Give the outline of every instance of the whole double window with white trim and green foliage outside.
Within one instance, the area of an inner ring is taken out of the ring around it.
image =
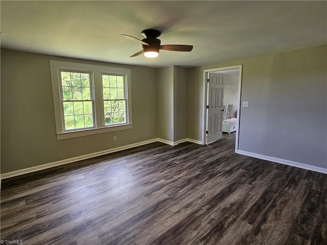
[[[57,139],[132,128],[130,69],[50,61]]]

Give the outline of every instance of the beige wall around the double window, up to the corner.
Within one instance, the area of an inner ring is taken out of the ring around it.
[[[50,60],[130,68],[133,129],[57,140]],[[156,88],[155,68],[1,50],[1,173],[157,138]]]

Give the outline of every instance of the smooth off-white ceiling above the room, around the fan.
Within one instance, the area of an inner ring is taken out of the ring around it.
[[[1,1],[1,47],[162,67],[198,66],[326,44],[326,1]],[[129,58],[141,31],[194,45]]]

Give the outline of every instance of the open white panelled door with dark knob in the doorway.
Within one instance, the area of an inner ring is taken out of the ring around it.
[[[222,75],[209,73],[207,95],[207,139],[212,143],[223,137],[223,97],[224,78]]]

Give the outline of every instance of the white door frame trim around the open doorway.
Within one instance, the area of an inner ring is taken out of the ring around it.
[[[239,69],[239,90],[238,90],[238,110],[237,110],[237,125],[236,125],[236,141],[235,141],[235,151],[239,148],[239,125],[240,125],[240,110],[241,110],[241,88],[242,88],[242,68],[243,65],[233,65],[233,66],[224,66],[217,67],[212,69],[203,70],[203,89],[202,89],[202,141],[201,144],[206,144],[206,118],[207,118],[207,78],[209,72],[222,71],[222,70],[232,70]]]

